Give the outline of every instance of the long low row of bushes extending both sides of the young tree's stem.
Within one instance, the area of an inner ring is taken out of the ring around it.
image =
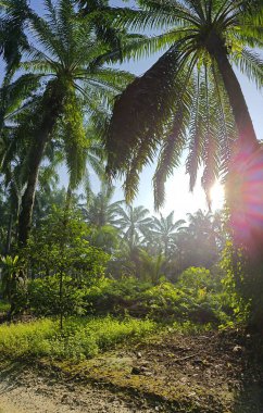
[[[28,288],[30,308],[38,315],[58,314],[58,279],[33,280]],[[218,325],[231,321],[233,309],[221,277],[209,270],[190,267],[176,284],[164,280],[156,286],[135,277],[120,280],[101,277],[78,289],[65,277],[64,314],[150,316],[155,321]]]

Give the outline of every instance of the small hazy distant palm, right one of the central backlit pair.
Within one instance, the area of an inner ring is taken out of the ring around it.
[[[161,214],[160,220],[153,216],[151,231],[153,236],[158,238],[162,252],[166,259],[168,256],[170,248],[174,243],[175,235],[184,224],[184,220],[178,220],[174,223],[174,211],[172,211],[166,217]]]

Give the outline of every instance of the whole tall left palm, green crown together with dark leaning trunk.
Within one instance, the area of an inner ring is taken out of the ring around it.
[[[34,116],[27,120],[32,146],[20,215],[21,245],[26,243],[30,228],[39,166],[59,122],[65,132],[65,153],[74,188],[82,179],[89,146],[84,116],[101,132],[111,99],[132,79],[123,72],[103,68],[97,61],[107,53],[111,61],[109,47],[96,38],[93,25],[87,17],[85,21],[76,17],[72,1],[60,0],[53,7],[52,1],[47,0],[45,7],[45,17],[26,9],[30,46],[20,64],[21,70],[38,78],[41,93]]]

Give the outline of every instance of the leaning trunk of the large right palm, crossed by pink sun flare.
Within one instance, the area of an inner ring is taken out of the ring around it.
[[[237,147],[228,174],[227,200],[235,246],[245,247],[248,253],[246,270],[241,274],[241,277],[245,274],[241,293],[251,303],[251,326],[262,331],[263,152],[226,50],[215,48],[212,54],[222,74],[238,129]],[[235,272],[235,277],[238,285],[239,270]]]

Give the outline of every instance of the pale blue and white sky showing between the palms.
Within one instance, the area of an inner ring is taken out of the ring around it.
[[[123,4],[121,0],[112,0],[112,2],[116,7]],[[43,1],[30,0],[30,5],[39,14],[42,13]],[[139,76],[142,75],[155,62],[156,59],[158,55],[153,55],[150,59],[145,59],[138,62],[126,62],[121,67]],[[249,83],[249,80],[245,76],[238,74],[238,78],[240,80],[241,88],[248,103],[248,108],[254,124],[255,133],[259,139],[263,139],[263,92],[256,90],[255,86]],[[153,173],[154,165],[148,166],[143,170],[143,172],[141,173],[138,196],[134,202],[135,205],[142,204],[143,206],[148,208],[151,213],[154,213],[153,189],[151,183]],[[93,189],[96,191],[99,189],[98,180],[95,176],[91,176],[91,179],[93,179]],[[65,167],[61,168],[61,182],[62,184],[66,185],[67,178]],[[115,199],[123,199],[121,183],[115,183]],[[200,185],[200,177],[193,193],[189,192],[188,190],[189,178],[185,174],[184,157],[181,159],[181,165],[174,172],[174,175],[167,180],[165,188],[166,202],[164,208],[160,211],[164,216],[166,216],[172,210],[175,211],[174,216],[176,220],[184,218],[186,216],[186,213],[193,213],[198,209],[208,211],[205,196]],[[223,196],[222,193],[220,196],[218,191],[222,191],[222,189],[217,189],[218,199],[216,202],[214,202],[214,205],[212,205],[214,210],[221,208],[223,204]]]

